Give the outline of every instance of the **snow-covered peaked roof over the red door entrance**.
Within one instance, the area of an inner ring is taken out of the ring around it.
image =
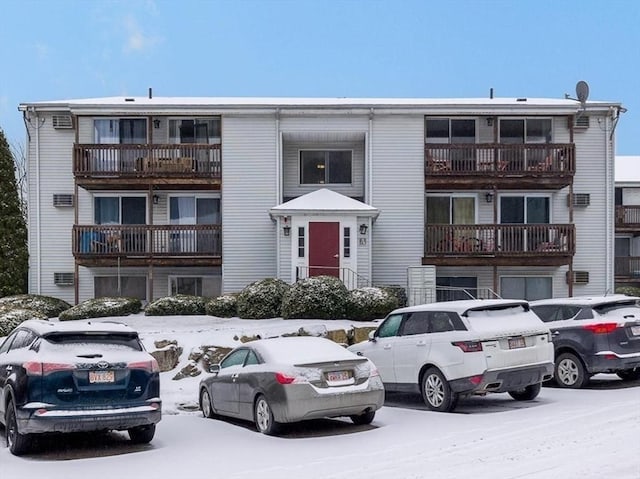
[[[369,206],[361,201],[336,193],[328,188],[322,188],[290,201],[274,206],[269,210],[271,216],[288,216],[294,214],[344,214],[352,213],[358,216],[377,218],[378,208]]]

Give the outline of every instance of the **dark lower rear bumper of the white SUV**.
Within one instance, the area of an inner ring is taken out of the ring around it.
[[[454,392],[462,394],[517,391],[532,384],[548,381],[553,377],[553,368],[553,362],[546,362],[517,368],[494,369],[485,371],[478,384],[473,384],[470,378],[464,378],[451,381],[449,385]]]

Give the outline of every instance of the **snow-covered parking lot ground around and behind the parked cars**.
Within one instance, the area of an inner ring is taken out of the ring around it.
[[[149,350],[155,340],[178,340],[178,367],[203,344],[353,325],[141,315],[125,322]],[[355,325],[365,324],[372,323]],[[545,387],[532,402],[507,394],[462,400],[452,414],[427,411],[418,396],[389,394],[370,426],[328,419],[268,437],[249,423],[190,410],[200,377],[172,381],[174,374],[162,374],[164,416],[151,444],[131,445],[126,434],[113,433],[44,440],[42,452],[21,458],[2,448],[2,478],[640,478],[640,381],[598,375],[584,390]]]

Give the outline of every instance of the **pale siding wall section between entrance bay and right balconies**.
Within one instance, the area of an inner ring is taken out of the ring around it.
[[[372,136],[372,280],[406,286],[424,251],[424,116],[374,116]]]

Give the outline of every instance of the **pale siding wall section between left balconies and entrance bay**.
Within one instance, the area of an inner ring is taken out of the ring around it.
[[[272,116],[222,120],[223,292],[276,276],[277,131]]]

